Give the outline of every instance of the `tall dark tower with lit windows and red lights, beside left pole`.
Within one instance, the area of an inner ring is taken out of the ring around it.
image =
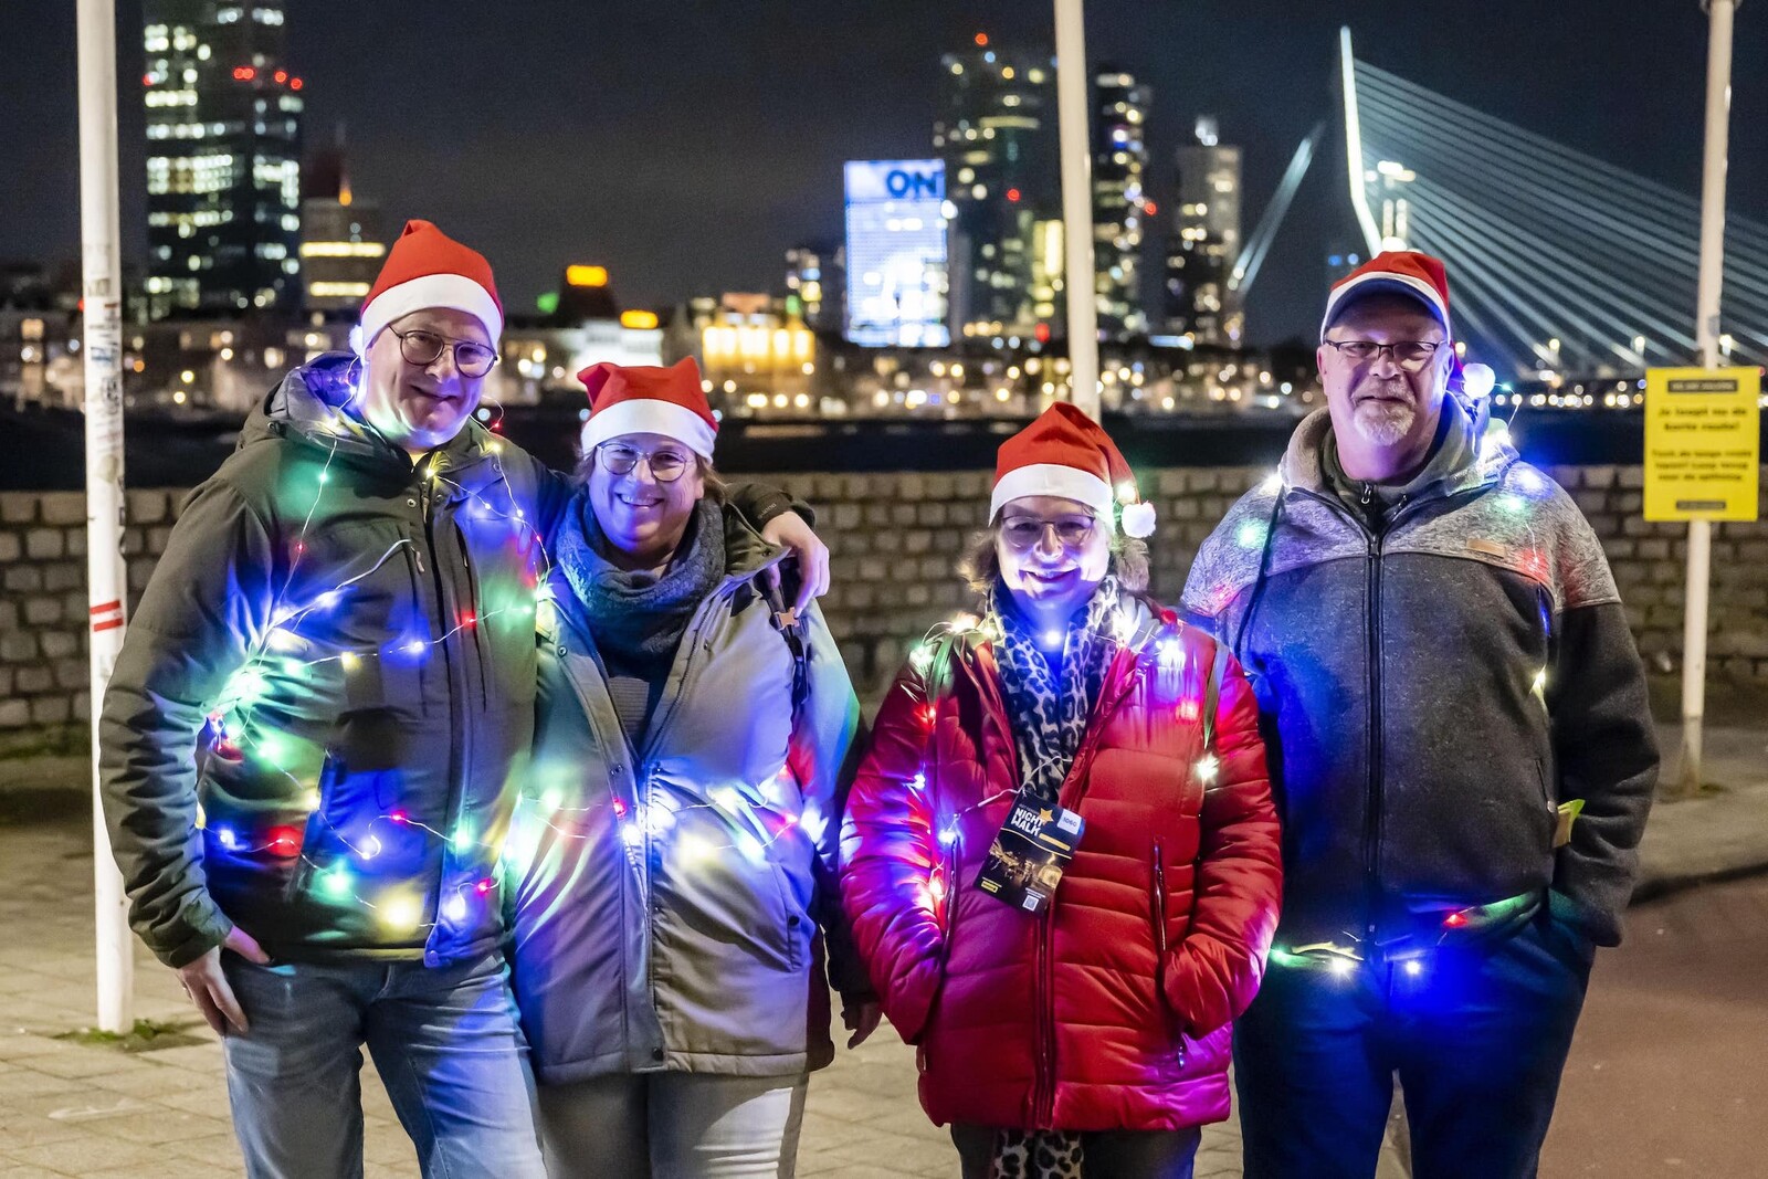
[[[283,0],[143,0],[149,315],[301,306],[302,81]]]

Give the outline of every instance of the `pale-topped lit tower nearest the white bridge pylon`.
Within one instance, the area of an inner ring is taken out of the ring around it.
[[[1197,120],[1197,141],[1179,147],[1179,209],[1167,247],[1167,332],[1199,345],[1239,346],[1245,315],[1229,290],[1239,258],[1239,148],[1222,143],[1216,120]]]

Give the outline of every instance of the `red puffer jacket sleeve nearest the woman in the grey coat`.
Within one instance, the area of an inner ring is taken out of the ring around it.
[[[939,990],[944,932],[930,889],[939,840],[925,794],[932,734],[923,679],[896,677],[847,795],[842,903],[884,1015],[914,1043]]]

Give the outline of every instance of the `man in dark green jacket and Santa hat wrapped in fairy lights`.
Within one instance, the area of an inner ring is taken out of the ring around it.
[[[543,1174],[499,856],[566,486],[472,419],[500,331],[484,258],[407,224],[357,354],[193,493],[104,696],[131,923],[223,1036],[251,1175],[361,1174],[362,1045],[426,1175]]]

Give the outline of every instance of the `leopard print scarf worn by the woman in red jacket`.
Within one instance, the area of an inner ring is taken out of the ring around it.
[[[1077,612],[1061,635],[1061,663],[1055,670],[1045,656],[1047,647],[1055,647],[1048,642],[1052,636],[1036,633],[1004,587],[995,585],[988,597],[992,629],[1001,635],[995,663],[1018,748],[1020,780],[1025,790],[1050,802],[1068,778],[1087,718],[1117,654],[1117,597],[1116,578],[1100,582],[1086,610]],[[1084,1168],[1086,1152],[1078,1133],[995,1131],[990,1179],[1080,1179]]]

